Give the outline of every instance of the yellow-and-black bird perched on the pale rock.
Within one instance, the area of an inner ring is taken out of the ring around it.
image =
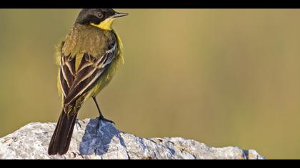
[[[122,44],[111,28],[114,19],[128,14],[113,9],[82,9],[74,28],[58,47],[58,88],[62,112],[51,138],[48,153],[66,154],[81,105],[93,98],[102,115],[96,95],[114,76],[123,63]]]

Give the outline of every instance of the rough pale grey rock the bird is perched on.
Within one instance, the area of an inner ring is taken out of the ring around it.
[[[31,123],[0,138],[0,159],[264,159],[255,150],[214,148],[194,140],[144,139],[98,119],[76,123],[69,152],[49,156],[55,123]]]

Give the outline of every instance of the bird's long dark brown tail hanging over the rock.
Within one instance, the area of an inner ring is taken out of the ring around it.
[[[59,122],[57,122],[48,148],[49,155],[63,155],[68,152],[71,137],[73,135],[74,125],[77,118],[77,112],[71,112],[71,114],[74,115],[68,116],[66,112],[62,110],[61,116],[59,117]]]

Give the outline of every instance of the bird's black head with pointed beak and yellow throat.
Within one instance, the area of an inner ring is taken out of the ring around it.
[[[110,24],[106,26],[111,26],[115,18],[126,15],[128,14],[116,12],[114,9],[82,9],[76,19],[76,23],[99,27],[101,23],[105,22],[105,24]],[[105,27],[105,25],[102,26]]]

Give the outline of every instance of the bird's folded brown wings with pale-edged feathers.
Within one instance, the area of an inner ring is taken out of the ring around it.
[[[91,90],[116,56],[116,45],[100,58],[85,53],[76,69],[76,58],[61,58],[60,82],[64,105],[71,105],[84,93]]]

